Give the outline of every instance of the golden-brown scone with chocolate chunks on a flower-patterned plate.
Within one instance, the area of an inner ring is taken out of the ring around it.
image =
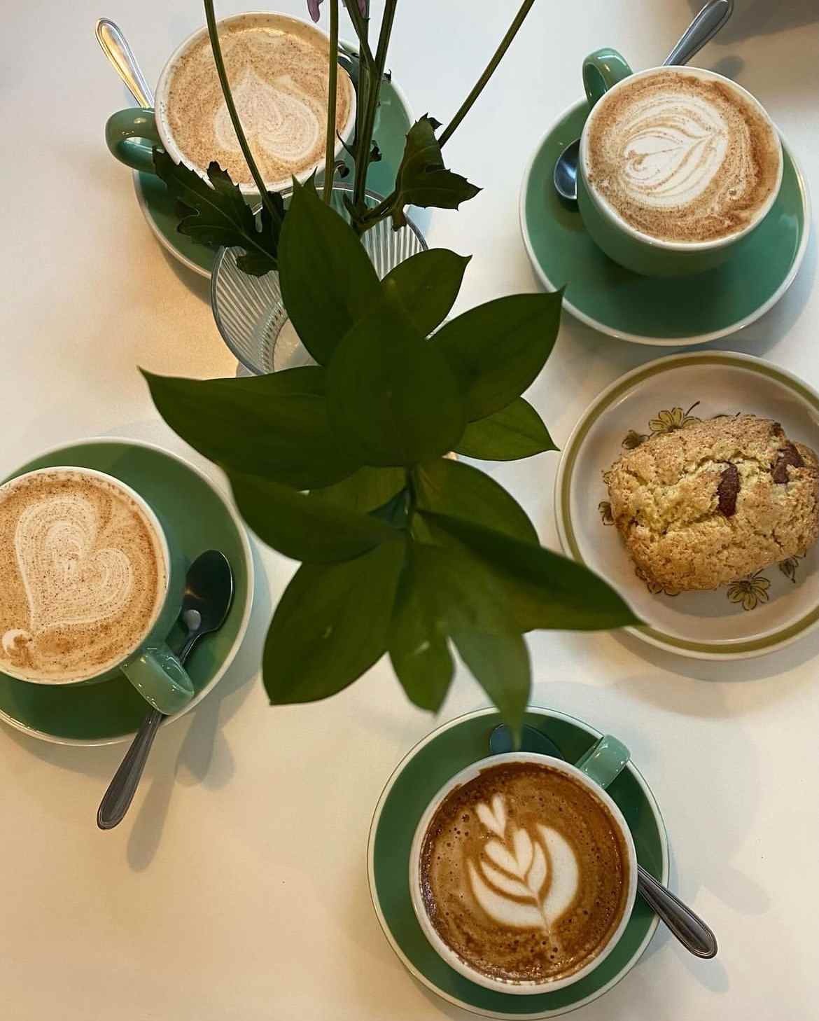
[[[709,589],[803,554],[819,535],[819,461],[754,415],[660,433],[604,473],[647,581]]]

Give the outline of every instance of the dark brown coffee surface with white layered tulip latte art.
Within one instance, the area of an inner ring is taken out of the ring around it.
[[[472,968],[508,981],[579,971],[620,924],[628,849],[606,806],[546,766],[509,763],[456,787],[421,850],[424,905]]]

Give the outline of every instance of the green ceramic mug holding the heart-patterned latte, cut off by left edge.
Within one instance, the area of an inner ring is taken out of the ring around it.
[[[158,598],[155,601],[152,615],[148,622],[146,622],[146,627],[143,629],[139,641],[128,648],[118,660],[114,661],[112,666],[109,666],[102,673],[95,674],[92,670],[78,668],[77,679],[59,678],[58,680],[54,680],[48,677],[32,676],[31,672],[25,672],[19,667],[15,670],[14,666],[7,659],[7,655],[2,654],[3,650],[0,650],[0,670],[9,677],[13,677],[25,683],[59,685],[96,684],[101,681],[110,680],[118,673],[123,673],[143,698],[150,702],[154,709],[159,710],[160,713],[164,713],[166,716],[177,713],[193,698],[194,688],[185,668],[165,644],[165,638],[171,633],[182,609],[187,565],[184,558],[174,551],[165,530],[149,504],[139,493],[119,479],[115,479],[104,472],[98,472],[94,469],[75,468],[71,466],[38,469],[34,472],[12,476],[0,487],[0,499],[2,499],[4,493],[13,493],[15,483],[19,484],[23,480],[34,478],[35,476],[66,471],[103,480],[114,489],[121,490],[127,497],[130,497],[142,512],[145,521],[153,532],[153,538],[155,539],[154,549],[159,552],[162,561],[163,582],[160,584]],[[47,542],[48,537],[46,536],[45,539],[38,541]],[[71,560],[76,556],[76,550],[82,543],[78,541],[76,536],[73,537],[70,535],[64,541],[70,546],[71,556],[67,558]],[[19,553],[17,554],[18,563],[20,555]],[[65,564],[55,561],[55,556],[56,553],[53,550],[49,553],[49,549],[44,547],[38,554],[38,561],[42,564],[44,563],[43,558],[45,558],[47,567],[49,564],[53,564],[53,570],[60,571],[65,576],[68,568]],[[20,571],[25,571],[25,569],[20,567]],[[30,595],[30,606],[32,605],[32,598],[33,596]],[[34,613],[33,610],[31,612]],[[44,625],[44,628],[47,631],[48,624]],[[3,636],[4,641],[5,637]],[[110,659],[107,662],[110,663]]]

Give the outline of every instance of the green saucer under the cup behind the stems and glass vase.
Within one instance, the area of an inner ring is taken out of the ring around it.
[[[403,144],[413,124],[413,112],[406,99],[394,82],[385,82],[381,89],[375,138],[382,158],[372,163],[367,175],[367,187],[379,195],[388,195],[395,185],[395,172],[403,155]],[[352,166],[347,153],[344,161]],[[350,180],[348,176],[347,181]],[[176,202],[162,182],[153,174],[134,174],[134,189],[148,227],[156,240],[175,258],[201,277],[209,277],[215,252],[204,245],[195,244],[177,230],[179,214]]]

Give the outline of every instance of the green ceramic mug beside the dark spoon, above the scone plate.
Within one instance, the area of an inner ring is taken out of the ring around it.
[[[652,237],[627,224],[589,181],[588,136],[594,117],[612,103],[624,82],[633,82],[658,71],[694,76],[722,83],[725,89],[739,93],[773,132],[778,146],[778,173],[775,186],[751,222],[734,234],[710,241],[693,242],[664,241]],[[583,61],[583,86],[588,99],[589,116],[580,137],[577,201],[586,230],[606,254],[626,269],[648,277],[678,277],[703,273],[735,254],[770,211],[782,182],[782,150],[778,141],[779,136],[759,101],[722,75],[698,67],[651,67],[634,74],[624,57],[617,50],[608,47],[589,54]]]

